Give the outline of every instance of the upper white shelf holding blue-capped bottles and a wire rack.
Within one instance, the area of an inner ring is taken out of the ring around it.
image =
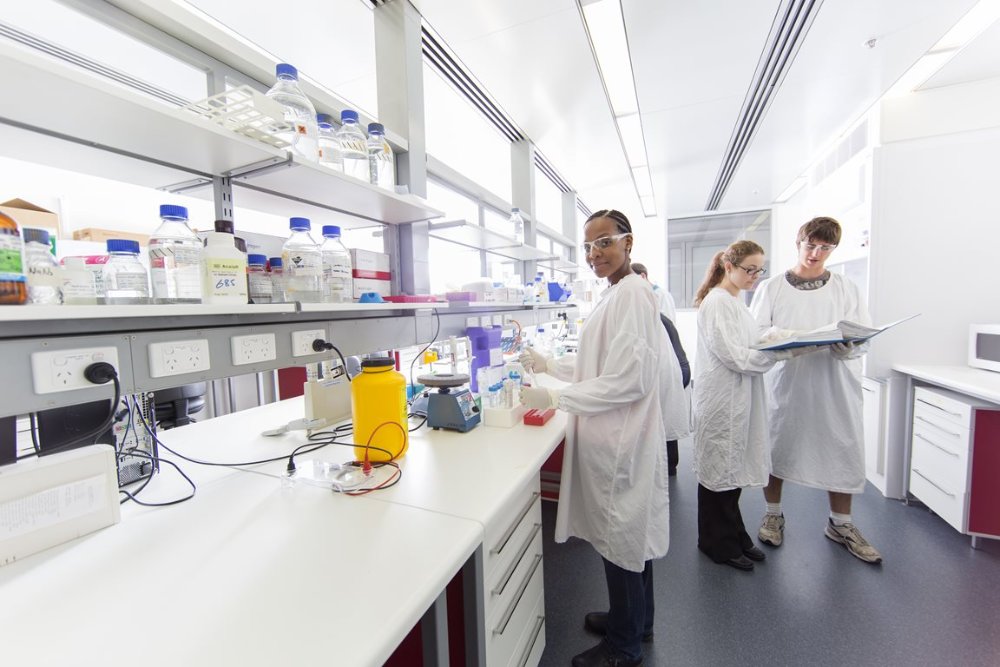
[[[385,224],[443,215],[27,47],[0,42],[0,70],[8,90],[32,91],[0,96],[4,155],[171,191],[196,185],[203,197],[212,176],[232,175],[273,195],[261,208],[282,215],[296,201]]]

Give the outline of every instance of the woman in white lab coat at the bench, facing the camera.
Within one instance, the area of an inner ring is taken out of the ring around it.
[[[638,665],[653,633],[652,559],[669,544],[663,443],[686,435],[687,414],[653,289],[630,268],[628,219],[598,211],[584,233],[587,264],[610,287],[580,329],[578,354],[525,355],[572,384],[525,388],[522,402],[569,413],[555,537],[587,540],[604,560],[609,611],[587,614],[584,626],[605,636],[573,665]]]

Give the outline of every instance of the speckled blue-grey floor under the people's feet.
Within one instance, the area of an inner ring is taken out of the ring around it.
[[[654,563],[655,639],[644,665],[1000,665],[1000,543],[969,547],[942,519],[887,500],[874,487],[854,501],[855,523],[885,559],[868,565],[823,537],[826,494],[788,484],[785,543],[764,546],[752,573],[716,565],[696,548],[697,483],[690,441],[671,478],[670,552]],[[756,537],[764,501],[744,492]],[[546,648],[541,665],[568,665],[597,639],[587,611],[607,609],[600,557],[552,538],[543,504]]]

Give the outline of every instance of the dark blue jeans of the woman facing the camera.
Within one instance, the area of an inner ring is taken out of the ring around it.
[[[653,561],[642,572],[622,569],[604,560],[608,582],[608,634],[612,649],[629,660],[642,657],[642,635],[653,631]]]

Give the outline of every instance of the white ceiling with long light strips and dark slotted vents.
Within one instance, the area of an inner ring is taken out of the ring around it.
[[[641,215],[575,0],[412,1],[591,208]],[[773,202],[974,4],[824,2],[720,210]],[[784,4],[622,6],[659,217],[700,212]],[[998,75],[994,27],[926,85]]]

